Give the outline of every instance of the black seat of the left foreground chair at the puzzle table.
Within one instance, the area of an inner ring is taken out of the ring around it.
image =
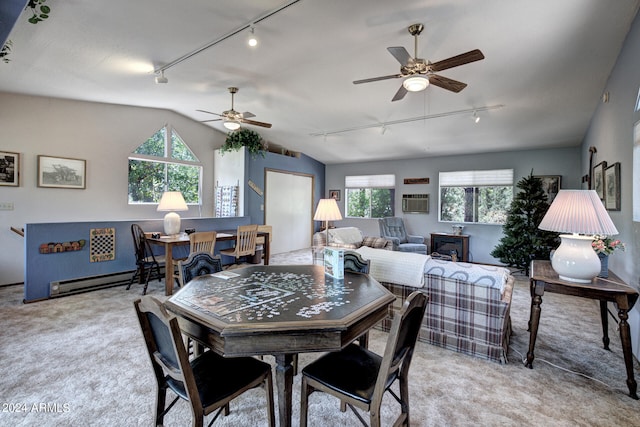
[[[245,389],[271,366],[253,357],[225,358],[213,351],[205,351],[190,362],[203,406],[228,399]],[[182,381],[167,376],[167,385],[178,396],[189,400]]]

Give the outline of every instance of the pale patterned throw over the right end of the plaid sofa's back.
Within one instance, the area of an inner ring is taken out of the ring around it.
[[[504,267],[468,262],[451,262],[429,258],[425,265],[425,274],[464,280],[478,286],[498,288],[504,292],[509,277],[509,270]]]

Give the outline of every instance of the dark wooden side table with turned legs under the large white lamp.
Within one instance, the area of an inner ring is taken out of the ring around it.
[[[596,277],[591,283],[575,283],[562,280],[551,267],[550,261],[532,261],[529,275],[531,290],[531,313],[529,315],[529,351],[525,366],[533,369],[533,350],[536,345],[538,335],[538,324],[540,323],[540,304],[544,292],[554,292],[563,295],[573,295],[582,298],[597,299],[600,301],[600,317],[602,320],[602,341],[604,348],[609,349],[609,329],[607,317],[607,302],[611,301],[618,307],[618,317],[620,323],[620,340],[622,341],[622,353],[624,363],[627,368],[627,386],[629,396],[638,399],[636,394],[637,384],[633,376],[633,355],[631,352],[631,332],[627,322],[628,312],[633,308],[638,299],[638,292],[631,286],[624,283],[612,272],[609,278],[602,279]]]

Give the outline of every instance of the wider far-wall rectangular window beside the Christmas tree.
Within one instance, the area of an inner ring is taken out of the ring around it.
[[[513,199],[513,169],[440,172],[439,221],[504,224]]]

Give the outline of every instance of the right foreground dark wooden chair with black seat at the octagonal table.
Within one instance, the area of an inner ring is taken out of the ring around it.
[[[300,427],[307,425],[308,398],[323,391],[340,399],[340,409],[349,406],[358,419],[367,423],[356,407],[369,412],[371,427],[380,426],[380,405],[385,392],[400,403],[401,412],[393,425],[409,425],[409,367],[420,324],[427,307],[427,296],[413,292],[393,318],[384,356],[356,344],[327,353],[302,370]],[[392,384],[398,380],[400,397]]]

